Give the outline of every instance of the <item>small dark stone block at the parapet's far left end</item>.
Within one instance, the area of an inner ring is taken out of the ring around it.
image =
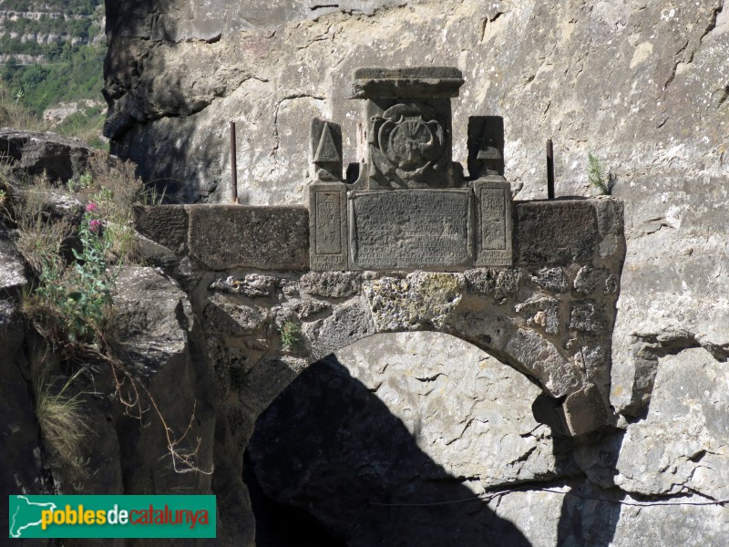
[[[187,253],[188,227],[185,205],[134,206],[134,229],[174,253]]]

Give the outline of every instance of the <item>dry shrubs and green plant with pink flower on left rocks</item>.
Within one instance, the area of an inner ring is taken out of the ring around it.
[[[113,165],[98,152],[90,166],[91,173],[68,184],[85,204],[75,226],[50,214],[46,200],[59,190],[42,178],[13,204],[16,245],[37,279],[24,310],[46,340],[71,352],[78,345],[102,346],[116,282],[107,266],[134,260],[132,205],[146,199],[133,165]]]

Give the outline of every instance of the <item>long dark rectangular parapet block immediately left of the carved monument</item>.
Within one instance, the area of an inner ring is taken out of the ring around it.
[[[304,270],[309,266],[304,207],[191,205],[190,257],[211,270]]]

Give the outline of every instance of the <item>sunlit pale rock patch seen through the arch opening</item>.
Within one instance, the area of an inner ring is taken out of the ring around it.
[[[378,335],[336,352],[352,377],[402,420],[419,449],[482,491],[554,470],[541,390],[510,366],[449,335]],[[474,358],[476,357],[476,358]]]

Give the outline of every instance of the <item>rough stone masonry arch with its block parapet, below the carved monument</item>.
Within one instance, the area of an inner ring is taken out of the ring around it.
[[[305,366],[377,333],[457,336],[553,399],[566,432],[611,422],[625,253],[612,198],[515,202],[511,266],[309,270],[303,207],[139,207],[145,255],[191,295],[224,398],[254,417]],[[237,398],[235,397],[237,393]],[[252,431],[243,424],[243,437]]]

